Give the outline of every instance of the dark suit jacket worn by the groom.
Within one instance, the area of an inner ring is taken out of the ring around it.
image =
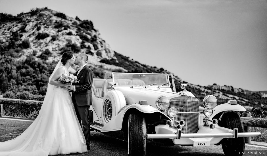
[[[72,100],[77,106],[92,105],[91,87],[94,77],[93,71],[87,66],[84,66],[78,75],[77,72],[75,73],[75,76],[77,76],[77,81],[79,82],[72,83],[76,89],[75,92],[72,92]]]

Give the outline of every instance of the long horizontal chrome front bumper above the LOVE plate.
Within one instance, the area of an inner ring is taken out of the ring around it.
[[[233,129],[231,133],[193,133],[182,134],[181,130],[177,130],[176,134],[147,134],[147,139],[181,139],[181,138],[237,138],[260,136],[260,132],[243,132],[238,133],[237,128]]]

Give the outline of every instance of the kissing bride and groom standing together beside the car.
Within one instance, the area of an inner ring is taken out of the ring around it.
[[[47,156],[90,150],[93,71],[86,66],[87,61],[85,53],[62,54],[49,77],[39,115],[22,134],[0,142],[0,156]],[[77,71],[71,67],[74,64],[80,67]],[[64,74],[77,76],[76,83],[60,83]]]

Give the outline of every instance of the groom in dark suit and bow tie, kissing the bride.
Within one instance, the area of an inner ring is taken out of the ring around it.
[[[91,87],[93,83],[93,71],[86,66],[88,56],[85,53],[78,53],[75,58],[75,64],[79,66],[74,76],[77,76],[77,83],[68,86],[72,93],[72,101],[78,117],[79,123],[82,121],[82,128],[86,140],[87,150],[90,150],[90,121],[89,108],[92,104]]]

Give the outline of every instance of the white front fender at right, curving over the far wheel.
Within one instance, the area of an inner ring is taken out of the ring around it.
[[[213,109],[213,113],[209,118],[212,119],[215,115],[224,111],[246,111],[246,109],[239,104],[237,105],[231,105],[228,103],[220,104]]]

